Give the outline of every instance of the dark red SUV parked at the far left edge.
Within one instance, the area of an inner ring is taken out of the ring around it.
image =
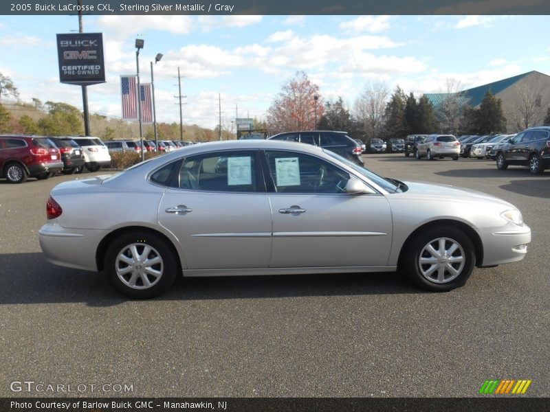
[[[0,135],[0,177],[23,183],[29,176],[47,179],[63,170],[61,152],[46,137]]]

